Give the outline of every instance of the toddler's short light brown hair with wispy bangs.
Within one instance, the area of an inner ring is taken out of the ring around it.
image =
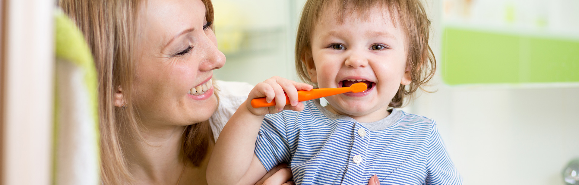
[[[332,4],[335,3],[335,4]],[[406,65],[410,65],[412,82],[408,86],[400,84],[398,92],[390,101],[389,106],[400,108],[406,96],[413,94],[418,88],[426,84],[436,71],[434,53],[428,46],[428,34],[430,33],[430,20],[419,0],[308,0],[302,10],[302,18],[299,21],[297,37],[295,40],[295,65],[298,76],[303,82],[312,84],[304,60],[305,54],[312,51],[310,39],[317,21],[321,17],[324,8],[338,5],[338,18],[345,20],[347,15],[356,12],[363,18],[367,18],[367,10],[375,5],[387,8],[394,23],[400,23],[408,39],[408,58]],[[313,66],[313,64],[307,64]]]

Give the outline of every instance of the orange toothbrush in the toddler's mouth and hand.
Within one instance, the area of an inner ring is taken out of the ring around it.
[[[345,92],[362,92],[368,88],[366,83],[360,82],[352,84],[350,87],[338,87],[338,88],[314,88],[311,91],[298,91],[298,101],[308,101],[311,99],[329,97],[331,95],[342,94]],[[251,106],[253,108],[265,108],[267,106],[275,106],[276,101],[275,99],[272,102],[267,103],[265,97],[264,98],[255,98],[251,100]],[[285,105],[290,105],[290,98],[288,95],[285,94]]]

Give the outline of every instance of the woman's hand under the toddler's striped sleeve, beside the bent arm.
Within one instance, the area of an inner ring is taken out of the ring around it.
[[[255,185],[294,185],[291,169],[287,164],[278,164],[259,179]]]

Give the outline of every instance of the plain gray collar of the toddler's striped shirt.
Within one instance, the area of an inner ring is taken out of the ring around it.
[[[345,116],[345,115],[338,115],[338,114],[334,114],[332,112],[329,112],[328,109],[325,109],[323,106],[320,105],[320,99],[314,99],[314,104],[316,104],[316,108],[318,110],[320,110],[320,112],[322,114],[324,114],[324,116],[328,117],[328,119],[331,120],[349,120],[349,121],[353,121],[355,123],[358,123],[358,121],[354,120],[353,118],[351,118],[350,116]],[[378,121],[374,121],[372,123],[360,123],[362,126],[368,128],[370,131],[379,131],[381,129],[386,129],[388,127],[390,127],[390,125],[393,125],[394,123],[396,123],[396,121],[398,121],[398,119],[400,119],[400,116],[402,116],[402,112],[398,111],[396,109],[390,109],[390,115],[384,117],[384,119],[382,120],[378,120]]]

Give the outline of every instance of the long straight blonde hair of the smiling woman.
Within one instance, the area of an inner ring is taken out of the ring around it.
[[[207,22],[213,21],[210,0],[203,1]],[[98,113],[102,184],[126,184],[133,181],[123,150],[124,139],[142,139],[141,128],[131,99],[135,61],[133,46],[140,0],[59,0],[58,5],[71,17],[94,56],[98,74]],[[127,109],[114,105],[115,92],[122,89]],[[215,91],[217,94],[217,89]],[[208,121],[185,128],[182,154],[198,166],[212,141]]]

